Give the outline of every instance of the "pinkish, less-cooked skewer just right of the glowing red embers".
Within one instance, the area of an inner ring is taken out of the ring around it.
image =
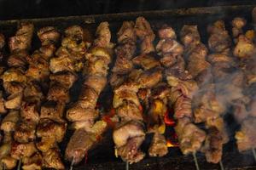
[[[163,56],[161,62],[166,66],[166,79],[171,87],[169,105],[173,106],[174,118],[177,120],[175,126],[177,139],[183,154],[192,153],[195,158],[195,167],[199,169],[195,153],[201,149],[206,134],[192,122],[191,100],[198,90],[198,86],[192,80],[189,71],[185,70],[183,46],[177,42],[175,32],[171,27],[163,29],[166,29],[165,32],[170,32],[169,43],[166,42],[169,45],[166,49],[169,50],[166,50],[166,52],[161,50]]]

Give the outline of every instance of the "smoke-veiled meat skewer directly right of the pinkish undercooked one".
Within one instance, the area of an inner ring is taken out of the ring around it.
[[[190,37],[190,38],[189,38]],[[189,39],[195,38],[195,41],[189,42]],[[215,129],[213,123],[207,125],[207,122],[214,122],[216,117],[223,113],[219,107],[218,102],[215,99],[215,90],[214,84],[212,84],[212,74],[211,74],[211,65],[207,62],[207,48],[204,44],[201,43],[200,34],[197,30],[197,26],[184,26],[181,32],[181,39],[185,45],[185,55],[188,63],[188,70],[191,73],[192,77],[195,78],[195,81],[198,83],[201,89],[201,92],[195,95],[195,100],[193,102],[195,122],[205,122],[209,132],[207,134],[206,144],[203,146],[203,151],[205,151],[207,156],[207,161],[215,162],[221,160],[222,155],[222,144],[223,138],[218,137],[218,134],[221,134],[224,129],[224,126],[217,128],[218,133],[211,129]],[[209,141],[214,140],[215,143]],[[209,144],[210,143],[210,144]],[[215,145],[214,145],[215,144]],[[215,150],[213,148],[215,147]],[[212,148],[212,149],[211,149]]]

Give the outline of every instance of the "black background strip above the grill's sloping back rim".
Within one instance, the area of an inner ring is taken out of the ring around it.
[[[252,4],[255,0],[0,0],[0,20]]]

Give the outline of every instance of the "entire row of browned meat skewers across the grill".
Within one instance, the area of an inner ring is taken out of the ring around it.
[[[34,27],[21,23],[9,38],[9,56],[3,54],[1,34],[0,57],[7,66],[1,68],[0,169],[65,169],[58,144],[67,122],[73,135],[64,159],[71,169],[107,130],[113,131],[115,155],[127,165],[146,156],[141,145],[148,133],[153,134],[148,155],[165,156],[167,126],[174,127],[184,155],[201,151],[207,161],[223,168],[223,146],[230,138],[224,115],[230,107],[241,123],[238,150],[254,153],[255,31],[244,31],[247,21],[239,17],[231,24],[232,37],[223,20],[208,26],[207,45],[197,26],[183,26],[177,38],[172,27],[164,25],[154,46],[154,31],[138,17],[136,22],[124,21],[115,47],[108,22],[97,27],[94,40],[80,26],[68,27],[62,37],[47,26],[38,31],[41,47],[30,54]],[[80,73],[82,86],[73,101],[69,91]],[[106,116],[97,101],[108,82],[113,113]]]

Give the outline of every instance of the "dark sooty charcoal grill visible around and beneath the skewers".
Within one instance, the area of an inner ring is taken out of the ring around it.
[[[222,6],[222,7],[203,7],[203,8],[180,8],[160,11],[144,11],[144,12],[132,12],[121,14],[96,14],[86,16],[68,16],[58,18],[46,18],[46,19],[30,19],[30,20],[3,20],[0,21],[0,31],[6,37],[14,35],[16,26],[20,21],[31,21],[36,30],[43,26],[56,26],[60,31],[67,26],[79,25],[88,28],[91,32],[95,32],[96,26],[101,21],[108,21],[110,29],[113,32],[112,42],[116,42],[115,33],[124,20],[136,20],[138,16],[144,16],[151,24],[153,30],[156,32],[163,24],[172,26],[175,31],[179,32],[181,27],[185,24],[198,25],[201,33],[202,42],[207,42],[206,26],[215,20],[225,20],[227,29],[230,31],[230,21],[236,16],[242,16],[247,19],[248,23],[251,23],[251,11],[254,5],[239,5],[239,6]],[[249,24],[248,27],[253,28],[253,25]],[[39,47],[39,41],[36,36],[32,40],[32,50]],[[158,40],[156,40],[157,42]],[[8,51],[8,50],[6,50]],[[73,100],[77,98],[79,94],[79,85],[75,85],[72,88]],[[108,86],[102,93],[99,104],[105,111],[109,110],[111,101],[111,88]],[[108,102],[106,103],[105,101]],[[229,117],[228,117],[229,119]],[[229,121],[232,122],[232,121]],[[236,124],[230,127],[236,128]],[[68,131],[64,141],[60,144],[61,151],[63,151],[67,145],[68,139],[72,132]],[[147,142],[147,140],[146,140]],[[125,162],[119,158],[115,158],[113,153],[113,141],[111,138],[111,132],[105,134],[102,142],[90,150],[87,156],[87,162],[81,162],[74,169],[125,169]],[[207,163],[205,157],[202,154],[197,154],[199,165],[201,169],[220,169],[218,164]],[[224,145],[223,163],[226,169],[256,169],[256,162],[253,160],[253,156],[250,151],[244,154],[240,154],[236,149],[236,143],[231,139],[230,143]],[[67,168],[69,162],[66,162]],[[148,169],[148,170],[167,170],[167,169],[195,169],[195,164],[192,156],[183,156],[178,148],[169,148],[167,156],[161,158],[149,158],[148,156],[136,164],[132,164],[130,169]]]

